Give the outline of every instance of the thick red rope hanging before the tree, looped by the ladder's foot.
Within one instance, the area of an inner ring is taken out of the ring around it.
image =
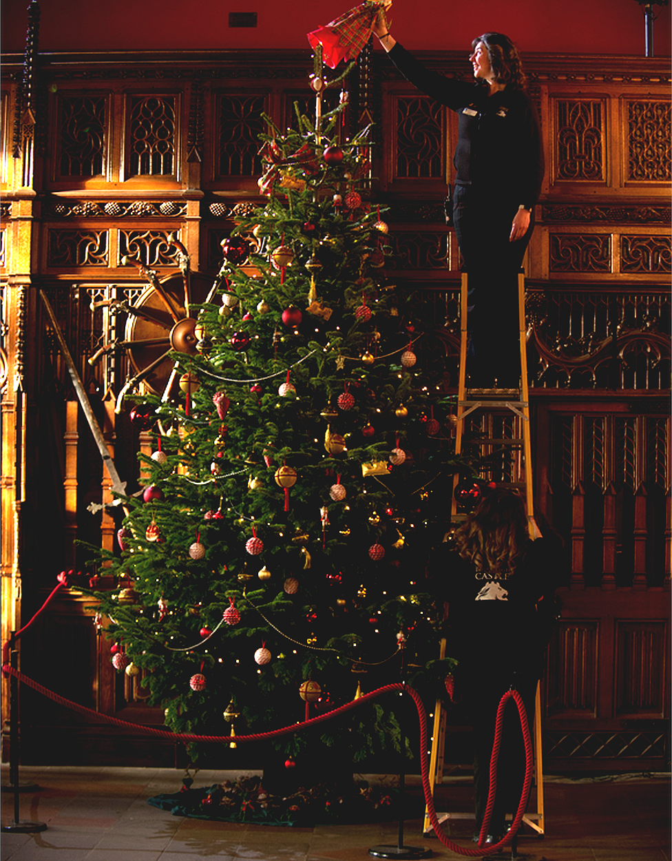
[[[118,727],[135,729],[140,733],[145,733],[147,735],[157,736],[158,738],[176,741],[206,741],[215,743],[228,743],[229,741],[231,741],[230,735],[192,735],[171,733],[167,729],[145,727],[142,724],[122,721],[120,720],[120,718],[113,717],[112,715],[102,715],[100,714],[100,712],[94,711],[93,709],[87,709],[86,706],[79,705],[79,703],[73,703],[66,697],[61,697],[59,694],[54,693],[53,691],[49,691],[46,687],[39,684],[38,682],[35,682],[32,678],[24,676],[22,672],[19,672],[18,670],[15,670],[14,667],[9,666],[9,664],[3,664],[3,672],[8,675],[15,676],[15,678],[17,678],[22,684],[28,684],[28,687],[33,688],[34,691],[38,691],[38,693],[42,694],[43,696],[52,699],[55,703],[59,703],[60,705],[64,705],[66,708],[78,711],[80,714],[95,717],[99,721],[102,721],[104,723],[111,723]],[[427,714],[425,712],[424,706],[422,705],[422,699],[420,698],[420,695],[417,693],[417,691],[411,688],[409,684],[403,684],[401,682],[396,682],[394,684],[385,684],[382,688],[378,688],[376,691],[371,691],[368,694],[363,694],[358,699],[353,700],[350,703],[345,703],[344,705],[339,706],[337,709],[333,709],[333,711],[327,712],[324,715],[317,715],[316,717],[311,717],[309,720],[301,723],[293,723],[289,727],[273,729],[267,733],[237,735],[236,741],[237,743],[242,744],[245,741],[258,741],[262,739],[277,738],[279,735],[295,733],[299,729],[314,726],[318,723],[328,721],[332,717],[336,717],[336,715],[342,714],[342,712],[349,711],[349,709],[354,709],[357,706],[362,705],[363,703],[369,702],[369,700],[373,700],[376,697],[380,697],[382,694],[390,693],[391,691],[405,691],[413,699],[414,703],[416,703],[417,717],[418,722],[420,723],[420,749],[421,751],[426,750],[428,740]],[[492,812],[492,806],[495,802],[496,763],[497,757],[499,755],[499,748],[502,741],[503,712],[509,699],[513,699],[518,706],[518,712],[521,716],[523,740],[525,742],[526,771],[525,780],[523,782],[523,790],[521,794],[521,802],[518,805],[518,810],[515,814],[513,824],[509,829],[509,833],[507,833],[499,841],[499,843],[492,844],[491,846],[482,847],[481,842],[483,841],[484,835],[487,833],[488,826],[490,825],[490,815]],[[434,798],[432,796],[432,790],[429,785],[429,766],[426,756],[421,756],[420,767],[422,776],[422,791],[424,792],[425,803],[427,804],[429,821],[432,823],[435,835],[440,840],[440,842],[444,846],[447,846],[447,848],[450,849],[452,852],[456,852],[458,855],[465,855],[469,858],[481,858],[484,855],[490,855],[493,852],[498,852],[502,848],[502,846],[505,846],[509,842],[509,840],[513,838],[521,825],[522,817],[525,813],[525,808],[527,805],[527,792],[529,791],[529,787],[532,781],[532,741],[530,739],[530,731],[527,726],[527,715],[525,714],[525,706],[523,705],[521,695],[518,693],[518,691],[507,691],[507,693],[505,693],[502,697],[502,700],[499,703],[499,708],[497,709],[495,724],[495,744],[492,748],[492,759],[490,760],[490,794],[488,796],[488,803],[485,810],[484,822],[481,829],[478,849],[467,849],[463,846],[459,846],[458,844],[453,843],[453,840],[447,838],[446,834],[441,828],[441,823],[439,822],[439,819],[436,815]]]

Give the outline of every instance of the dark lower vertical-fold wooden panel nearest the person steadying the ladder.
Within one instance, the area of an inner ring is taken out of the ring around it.
[[[549,655],[553,663],[546,689],[549,714],[595,713],[598,624],[564,619],[558,623]]]

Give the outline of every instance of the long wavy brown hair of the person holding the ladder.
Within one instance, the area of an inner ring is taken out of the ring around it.
[[[459,555],[495,574],[515,571],[529,540],[525,503],[509,490],[484,496],[455,533]]]

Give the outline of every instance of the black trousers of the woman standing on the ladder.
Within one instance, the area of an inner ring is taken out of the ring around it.
[[[517,387],[520,380],[518,273],[533,231],[530,220],[525,236],[509,242],[521,202],[455,186],[453,224],[468,272],[471,386]]]

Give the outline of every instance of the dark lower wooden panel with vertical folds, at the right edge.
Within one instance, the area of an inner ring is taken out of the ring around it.
[[[616,623],[616,713],[663,717],[665,623]]]

